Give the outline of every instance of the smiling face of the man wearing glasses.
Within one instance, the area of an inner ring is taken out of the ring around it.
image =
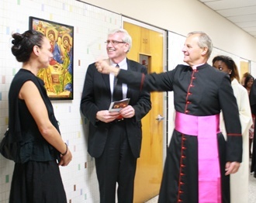
[[[128,43],[113,43],[123,42],[123,33],[114,33],[108,36],[106,44],[106,50],[109,58],[116,64],[122,61],[126,57],[126,53],[129,49]]]

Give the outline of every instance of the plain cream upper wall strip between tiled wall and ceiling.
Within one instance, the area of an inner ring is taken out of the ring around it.
[[[256,39],[198,0],[82,1],[182,36],[202,30],[209,34],[216,48],[256,61]]]

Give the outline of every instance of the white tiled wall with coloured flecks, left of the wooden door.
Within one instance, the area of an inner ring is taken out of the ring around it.
[[[74,100],[52,101],[61,135],[73,153],[61,167],[69,203],[99,202],[95,164],[87,152],[88,125],[79,110],[88,64],[106,57],[107,33],[121,27],[121,15],[74,0],[0,0],[0,139],[8,125],[8,92],[22,64],[11,53],[11,35],[29,29],[29,16],[74,26]],[[0,202],[9,202],[14,163],[0,155]]]

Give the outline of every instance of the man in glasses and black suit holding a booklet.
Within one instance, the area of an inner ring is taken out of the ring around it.
[[[109,63],[120,69],[147,74],[147,68],[126,58],[132,40],[125,29],[115,29],[108,35],[106,50]],[[115,102],[116,85],[113,74],[101,74],[95,64],[88,67],[81,96],[81,112],[89,119],[88,153],[95,157],[99,181],[100,202],[133,202],[133,182],[140,157],[141,119],[150,111],[150,93],[130,89],[121,84],[120,99],[130,103],[119,112],[109,112]]]

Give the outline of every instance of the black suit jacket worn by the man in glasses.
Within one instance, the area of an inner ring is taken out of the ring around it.
[[[147,74],[143,65],[127,59],[128,70]],[[150,111],[150,93],[131,89],[128,85],[126,98],[130,98],[130,104],[135,110],[133,118],[124,119],[126,134],[134,157],[140,157],[141,148],[141,119]],[[84,89],[81,96],[81,112],[90,121],[88,136],[88,153],[92,157],[100,157],[104,150],[111,123],[96,121],[96,113],[108,110],[111,103],[111,91],[109,75],[101,74],[90,64],[85,76]]]

